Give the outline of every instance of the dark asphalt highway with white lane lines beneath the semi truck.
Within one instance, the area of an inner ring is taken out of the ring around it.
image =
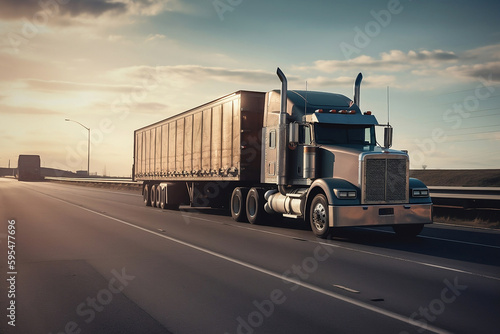
[[[0,179],[0,219],[1,333],[500,328],[497,231],[434,224],[404,241],[349,228],[320,240],[294,220],[253,226],[147,208],[133,192],[12,179]]]

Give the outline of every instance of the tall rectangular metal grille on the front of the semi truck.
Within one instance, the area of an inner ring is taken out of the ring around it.
[[[405,203],[408,201],[408,160],[367,158],[364,169],[363,203]]]

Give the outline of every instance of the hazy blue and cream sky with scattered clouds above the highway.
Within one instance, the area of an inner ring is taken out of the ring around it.
[[[238,90],[352,98],[411,168],[500,168],[499,1],[0,0],[0,167],[130,176],[133,131]],[[389,111],[389,116],[388,116]],[[75,122],[67,122],[71,119]]]

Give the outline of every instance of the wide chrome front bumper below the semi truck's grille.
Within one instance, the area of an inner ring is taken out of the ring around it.
[[[432,223],[432,204],[328,206],[330,226]]]

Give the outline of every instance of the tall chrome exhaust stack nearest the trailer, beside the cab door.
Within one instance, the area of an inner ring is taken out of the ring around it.
[[[286,195],[286,102],[288,81],[285,74],[278,67],[276,74],[281,81],[281,105],[280,105],[280,118],[278,123],[278,189],[282,195]]]

